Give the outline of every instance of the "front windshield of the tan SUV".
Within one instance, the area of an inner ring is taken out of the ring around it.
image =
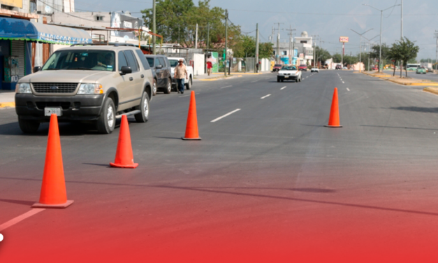
[[[108,50],[60,50],[45,62],[45,70],[115,71],[115,53]]]

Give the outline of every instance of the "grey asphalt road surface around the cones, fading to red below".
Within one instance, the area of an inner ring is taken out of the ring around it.
[[[335,87],[343,127],[333,129],[323,125]],[[180,139],[189,92],[159,93],[146,124],[130,118],[137,169],[108,165],[118,128],[61,124],[75,202],[3,230],[0,261],[437,257],[438,96],[351,71],[307,72],[301,83],[272,73],[196,81],[193,90],[202,141]],[[45,124],[24,135],[15,111],[0,111],[0,225],[38,201],[47,133]]]

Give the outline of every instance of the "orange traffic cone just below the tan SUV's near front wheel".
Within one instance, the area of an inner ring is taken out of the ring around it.
[[[129,134],[128,117],[126,117],[126,115],[122,115],[119,142],[117,143],[117,151],[115,152],[115,161],[110,162],[110,166],[118,168],[136,168],[138,166],[138,164],[134,164],[131,134]]]

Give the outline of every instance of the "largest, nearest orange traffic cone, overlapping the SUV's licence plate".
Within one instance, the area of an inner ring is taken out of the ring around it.
[[[57,115],[50,116],[49,138],[45,152],[43,183],[40,201],[33,208],[66,208],[73,204],[67,200],[64,167],[62,165],[61,141],[59,140]]]

